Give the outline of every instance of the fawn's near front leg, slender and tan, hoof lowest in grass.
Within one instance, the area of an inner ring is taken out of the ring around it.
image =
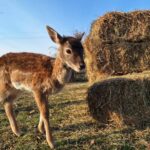
[[[48,100],[46,94],[41,94],[40,92],[34,92],[35,101],[40,111],[40,128],[42,124],[44,124],[44,129],[46,133],[46,140],[50,146],[50,148],[54,148],[52,133],[50,129],[49,123],[49,110],[48,110]]]

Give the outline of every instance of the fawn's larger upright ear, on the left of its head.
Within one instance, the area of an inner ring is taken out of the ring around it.
[[[53,42],[60,44],[63,40],[62,36],[58,34],[53,28],[46,26],[48,34]]]

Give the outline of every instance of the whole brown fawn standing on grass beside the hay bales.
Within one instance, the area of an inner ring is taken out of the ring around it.
[[[38,130],[46,134],[50,148],[54,148],[49,122],[48,95],[61,90],[71,77],[72,69],[85,69],[83,46],[78,37],[61,36],[47,26],[48,34],[58,44],[55,61],[35,53],[8,53],[0,57],[0,101],[8,117],[13,133],[20,131],[13,113],[13,100],[21,90],[33,93],[40,112]]]

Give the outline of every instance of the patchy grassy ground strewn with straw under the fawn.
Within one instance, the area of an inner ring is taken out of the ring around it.
[[[50,97],[50,122],[57,150],[149,150],[150,129],[102,127],[88,114],[87,84],[68,84]],[[0,105],[0,150],[47,150],[44,135],[37,131],[39,113],[28,93],[16,101],[15,113],[23,135],[15,137]]]

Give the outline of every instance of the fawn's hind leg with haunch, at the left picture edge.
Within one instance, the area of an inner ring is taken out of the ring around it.
[[[10,75],[5,67],[0,69],[0,102],[4,104],[5,113],[13,133],[19,136],[20,132],[13,112],[13,100],[16,98],[18,91],[11,84]]]

